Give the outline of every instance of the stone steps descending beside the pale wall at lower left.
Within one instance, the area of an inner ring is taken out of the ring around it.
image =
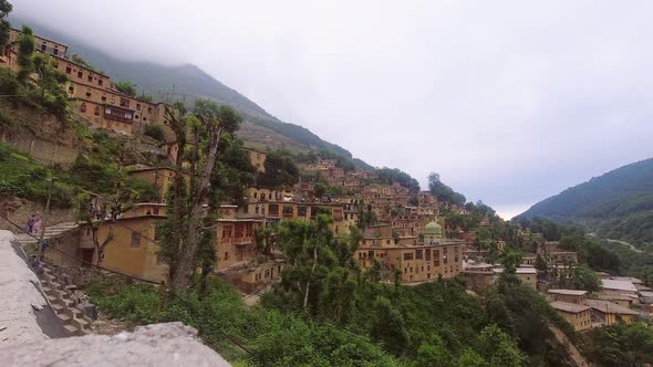
[[[75,294],[75,285],[65,285],[55,270],[43,268],[41,275],[43,292],[52,305],[52,311],[61,322],[69,336],[82,336],[91,333],[91,319],[81,307],[80,296]]]

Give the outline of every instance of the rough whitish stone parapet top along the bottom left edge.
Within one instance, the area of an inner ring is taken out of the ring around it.
[[[182,323],[114,336],[86,335],[0,348],[3,366],[230,366]]]

